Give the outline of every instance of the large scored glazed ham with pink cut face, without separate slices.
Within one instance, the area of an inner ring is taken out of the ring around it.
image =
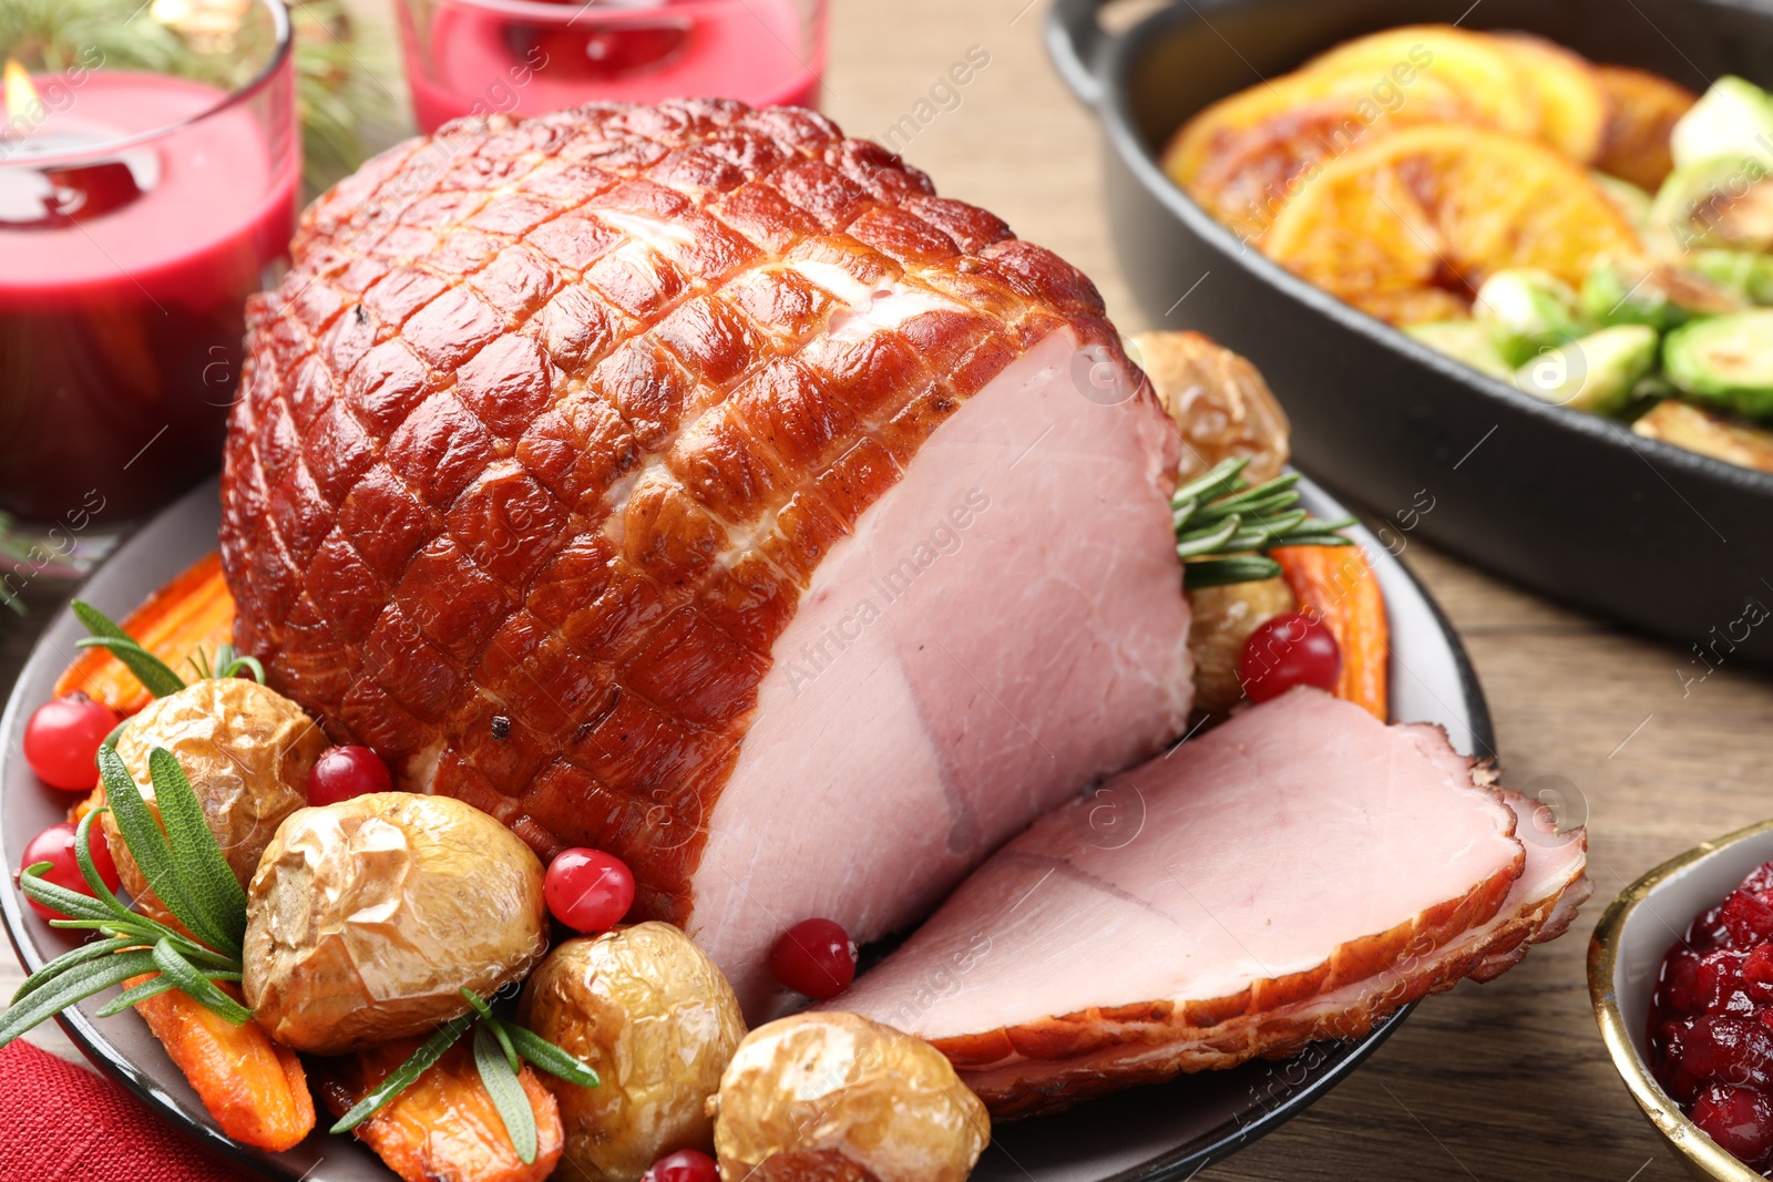
[[[1175,434],[1089,280],[805,110],[450,124],[250,305],[236,642],[399,785],[596,845],[750,1014],[1181,734]]]

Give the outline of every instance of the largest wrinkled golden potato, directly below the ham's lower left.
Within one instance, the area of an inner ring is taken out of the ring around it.
[[[303,808],[246,888],[246,1005],[314,1054],[431,1033],[523,980],[548,950],[543,865],[447,796]]]

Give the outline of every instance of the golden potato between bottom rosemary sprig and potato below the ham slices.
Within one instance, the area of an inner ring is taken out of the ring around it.
[[[569,939],[530,976],[518,1017],[603,1081],[544,1081],[560,1102],[574,1178],[635,1182],[665,1154],[713,1150],[707,1099],[745,1017],[727,978],[676,927]]]

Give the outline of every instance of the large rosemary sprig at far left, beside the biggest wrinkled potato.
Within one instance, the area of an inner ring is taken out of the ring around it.
[[[252,1017],[246,1007],[216,985],[241,978],[246,895],[204,822],[202,805],[179,760],[172,751],[154,748],[147,766],[160,806],[158,822],[117,751],[99,750],[105,797],[124,844],[190,936],[131,911],[105,884],[92,865],[92,826],[106,810],[87,812],[74,831],[74,859],[92,893],[82,895],[44,879],[51,867],[48,861],[25,867],[18,884],[27,898],[67,916],[50,920],[50,927],[92,930],[101,939],[62,953],[25,978],[12,994],[12,1007],[0,1014],[0,1047],[67,1007],[142,975],[154,976],[106,1003],[99,1017],[121,1014],[168,989],[186,992],[236,1026]]]

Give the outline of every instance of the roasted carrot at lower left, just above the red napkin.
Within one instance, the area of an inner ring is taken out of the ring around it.
[[[145,980],[152,973],[124,985]],[[222,989],[239,998],[232,985]],[[191,1081],[222,1132],[282,1152],[314,1131],[314,1097],[301,1060],[271,1042],[257,1023],[234,1026],[177,989],[138,1001],[135,1012]]]

